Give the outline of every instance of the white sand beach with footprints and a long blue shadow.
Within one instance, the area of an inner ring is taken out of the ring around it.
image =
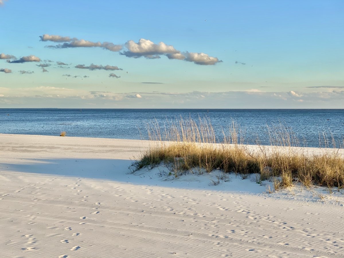
[[[344,257],[343,192],[131,174],[147,147],[0,134],[0,256]]]

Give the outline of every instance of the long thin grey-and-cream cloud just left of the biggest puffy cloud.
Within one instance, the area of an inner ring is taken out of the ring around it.
[[[59,35],[44,34],[40,36],[40,38],[41,41],[65,42],[63,44],[46,46],[54,49],[65,49],[69,47],[102,47],[103,49],[107,49],[114,52],[120,51],[122,49],[121,45],[115,45],[111,42],[92,42],[88,40],[78,40],[76,38],[64,37]]]

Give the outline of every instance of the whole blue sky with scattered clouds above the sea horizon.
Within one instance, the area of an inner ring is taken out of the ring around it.
[[[0,0],[0,108],[344,108],[344,1]]]

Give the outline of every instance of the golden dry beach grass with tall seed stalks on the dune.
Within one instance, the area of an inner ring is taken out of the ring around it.
[[[234,122],[223,131],[223,139],[217,139],[209,118],[195,120],[180,118],[159,125],[157,121],[148,126],[150,148],[131,165],[136,171],[143,167],[153,168],[168,163],[176,171],[211,172],[221,169],[234,172],[243,178],[259,173],[260,181],[271,180],[275,190],[289,187],[300,181],[306,187],[313,184],[343,187],[343,149],[309,149],[299,147],[299,141],[291,129],[283,126],[270,131],[271,146],[244,145],[243,133]],[[328,146],[328,143],[325,143]]]

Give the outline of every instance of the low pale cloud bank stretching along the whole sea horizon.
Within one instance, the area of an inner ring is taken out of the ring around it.
[[[49,107],[96,104],[118,108],[344,108],[344,91],[303,93],[302,99],[291,98],[290,92],[115,93],[43,86],[23,89],[0,87],[0,92],[4,95],[1,105],[20,106],[17,103],[26,103],[26,107],[47,107],[48,103]],[[145,100],[144,103],[138,101],[140,105],[135,101],[139,96]]]

